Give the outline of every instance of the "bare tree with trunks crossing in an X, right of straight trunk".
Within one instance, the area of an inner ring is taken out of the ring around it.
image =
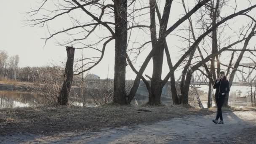
[[[176,65],[176,68],[172,67],[172,62],[170,55],[168,55],[168,65],[171,69],[171,72],[165,77],[164,80],[161,80],[162,77],[162,68],[163,68],[163,55],[164,50],[167,54],[168,51],[166,51],[167,44],[165,41],[165,38],[173,32],[179,25],[181,25],[184,21],[186,21],[193,13],[195,13],[198,9],[200,9],[205,3],[207,3],[209,0],[203,0],[200,3],[197,3],[194,8],[192,8],[191,11],[189,11],[186,15],[184,15],[181,19],[179,19],[175,24],[173,24],[170,28],[167,29],[168,19],[170,16],[171,11],[171,5],[173,0],[166,0],[165,1],[165,8],[163,10],[163,16],[161,17],[157,3],[155,0],[149,0],[149,8],[150,8],[150,36],[151,36],[151,43],[152,43],[152,50],[146,57],[145,61],[141,65],[141,69],[139,69],[138,74],[134,80],[134,85],[131,88],[131,92],[128,96],[128,102],[133,99],[135,96],[135,93],[139,86],[139,80],[142,77],[142,74],[144,70],[146,69],[149,61],[151,58],[153,58],[153,75],[151,79],[151,96],[149,97],[149,104],[151,105],[159,105],[161,103],[161,93],[163,86],[167,83],[168,79],[171,77],[171,87],[175,87],[175,78],[174,78],[174,71],[183,61],[184,57],[181,58],[181,61],[179,61]],[[155,20],[155,11],[157,12],[157,17],[159,20],[159,36],[157,38],[157,32],[156,32],[156,20]],[[187,55],[187,53],[186,53]],[[185,56],[186,57],[186,56]],[[179,104],[177,93],[175,92],[176,88],[172,88],[172,97],[173,97],[173,103]]]

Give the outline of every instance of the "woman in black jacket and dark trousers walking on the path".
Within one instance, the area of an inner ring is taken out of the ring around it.
[[[229,93],[229,81],[227,80],[227,77],[225,76],[224,72],[219,73],[219,78],[215,80],[213,88],[214,89],[216,88],[215,101],[216,101],[216,106],[218,108],[216,119],[213,120],[213,123],[217,124],[220,118],[221,121],[218,124],[224,124],[221,107],[226,100],[226,95]]]

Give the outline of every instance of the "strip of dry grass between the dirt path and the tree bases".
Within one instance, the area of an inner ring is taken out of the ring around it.
[[[120,127],[169,120],[185,115],[214,112],[192,107],[28,107],[0,109],[0,134],[52,134],[68,131],[97,131],[99,128]],[[2,116],[1,116],[2,115]]]

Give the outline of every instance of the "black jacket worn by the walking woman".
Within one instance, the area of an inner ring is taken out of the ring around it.
[[[229,93],[229,81],[227,78],[223,78],[222,80],[217,83],[217,80],[215,80],[215,83],[213,85],[213,88],[216,88],[215,97],[219,98],[219,96],[226,96],[227,93]],[[222,95],[221,93],[225,93]]]

